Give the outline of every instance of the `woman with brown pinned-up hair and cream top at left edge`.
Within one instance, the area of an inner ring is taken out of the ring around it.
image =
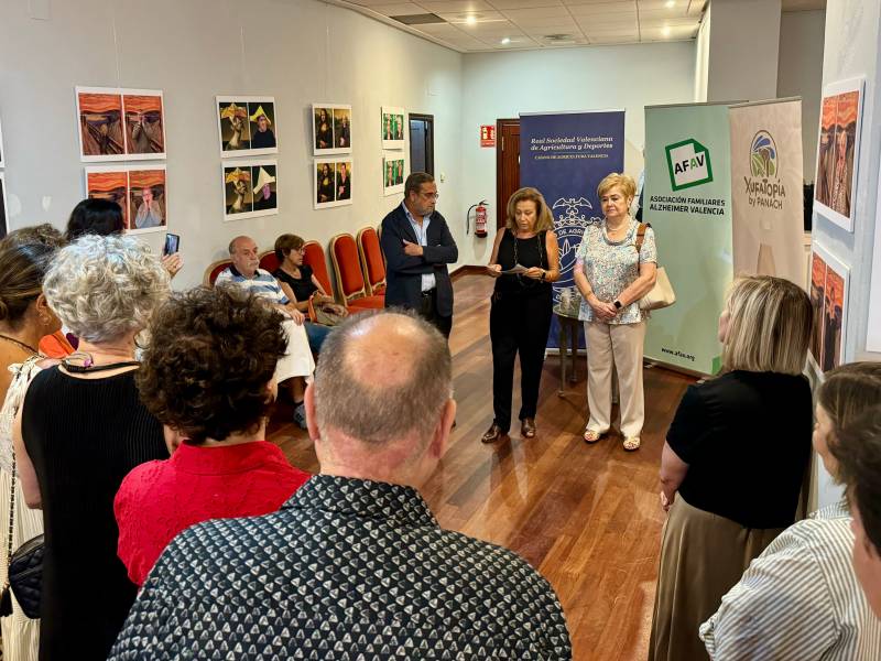
[[[0,539],[8,546],[0,552],[0,585],[7,583],[8,552],[43,533],[43,513],[28,508],[21,497],[12,423],[28,383],[47,366],[37,343],[62,326],[46,303],[43,279],[63,243],[50,225],[18,229],[0,241]],[[9,615],[0,617],[4,657],[35,660],[40,620],[25,617],[14,600]]]

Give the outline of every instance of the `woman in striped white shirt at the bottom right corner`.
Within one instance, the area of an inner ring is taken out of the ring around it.
[[[842,432],[879,404],[881,362],[852,362],[826,372],[817,392],[814,449],[836,480],[840,472],[834,453],[847,449]],[[850,523],[842,500],[783,531],[701,625],[710,657],[878,659],[881,621],[872,616],[850,563]]]

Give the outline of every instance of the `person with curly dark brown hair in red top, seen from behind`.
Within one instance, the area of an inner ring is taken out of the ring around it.
[[[281,322],[228,286],[175,294],[154,315],[138,387],[176,448],[129,473],[113,503],[119,557],[135,584],[185,528],[273,512],[309,478],[264,441],[286,346]]]

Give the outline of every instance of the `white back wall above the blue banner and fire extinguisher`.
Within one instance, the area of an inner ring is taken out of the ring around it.
[[[543,110],[624,108],[624,170],[639,176],[645,141],[644,106],[689,101],[694,42],[591,46],[520,53],[467,54],[461,115],[461,212],[488,199],[490,236],[459,242],[463,263],[485,264],[494,235],[496,150],[481,149],[480,124]]]

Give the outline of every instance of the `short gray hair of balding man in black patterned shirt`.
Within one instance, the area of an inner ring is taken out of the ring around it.
[[[359,361],[376,360],[377,354],[368,356],[365,347],[357,346],[369,334],[383,333],[382,326],[390,327],[388,322],[407,330],[403,343],[400,335],[389,340],[390,351],[406,353],[400,366],[390,366],[402,377],[393,382],[382,373],[365,373]],[[415,314],[391,310],[350,315],[325,339],[315,369],[315,412],[322,435],[333,429],[368,444],[411,435],[427,443],[453,392],[452,362],[444,336]]]

